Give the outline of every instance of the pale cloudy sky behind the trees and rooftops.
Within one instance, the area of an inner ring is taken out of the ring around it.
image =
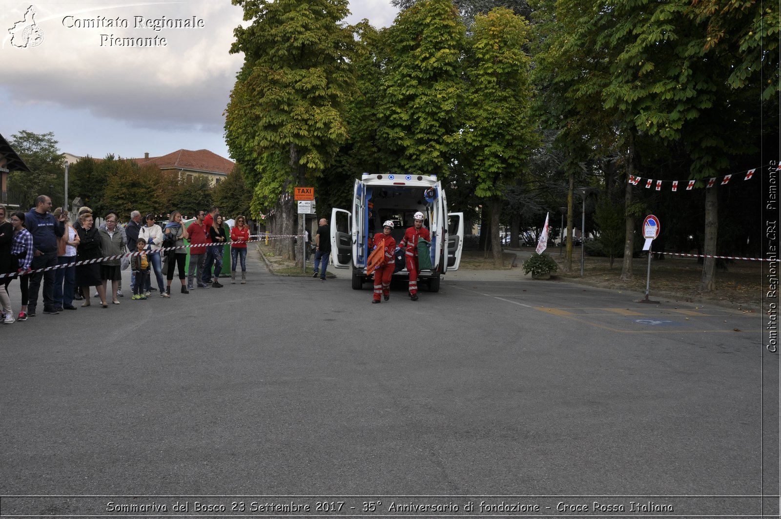
[[[347,23],[375,27],[397,14],[390,0],[352,0],[350,9]],[[222,114],[242,60],[228,49],[241,18],[230,0],[0,0],[0,134],[52,131],[76,156],[184,148],[227,157]],[[196,27],[155,29],[169,20]],[[155,46],[119,45],[155,37]]]

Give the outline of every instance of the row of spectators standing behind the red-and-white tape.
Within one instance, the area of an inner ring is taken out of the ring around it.
[[[148,299],[152,292],[170,298],[175,271],[183,294],[194,288],[223,288],[219,275],[226,242],[231,242],[230,282],[236,283],[236,269],[241,266],[241,284],[246,283],[250,234],[243,216],[236,218],[230,236],[226,236],[216,206],[198,211],[187,227],[179,211],[170,213],[164,228],[154,214],[146,215],[142,223],[138,211],[130,213],[124,226],[119,224],[116,212],[106,213],[103,218],[105,223],[95,227],[92,210],[82,207],[71,224],[67,211],[58,207],[52,212],[52,199],[46,195],[37,197],[27,213],[9,214],[0,205],[0,274],[5,274],[0,277],[0,320],[12,324],[35,317],[39,295],[43,313],[77,310],[74,301],[91,306],[93,288],[93,296],[103,308],[119,305],[123,297],[122,270],[128,267],[133,300]],[[200,246],[185,247],[184,240]],[[185,275],[188,254],[190,264]],[[18,281],[21,292],[16,315],[8,292],[12,281]]]

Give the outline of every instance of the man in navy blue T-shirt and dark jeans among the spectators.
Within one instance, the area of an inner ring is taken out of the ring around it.
[[[59,218],[52,216],[52,199],[41,195],[35,199],[34,209],[24,215],[24,227],[33,235],[33,270],[57,265],[57,238],[65,234],[65,220],[62,213]],[[54,304],[54,270],[34,272],[30,276],[30,302],[27,305],[27,316],[35,317],[38,302],[38,291],[41,289],[41,278],[44,280],[44,313],[59,313]]]

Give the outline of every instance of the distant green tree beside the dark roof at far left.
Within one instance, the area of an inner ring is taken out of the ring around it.
[[[34,206],[38,195],[48,195],[55,207],[62,206],[65,156],[59,152],[57,144],[51,131],[35,134],[22,130],[11,135],[9,145],[30,168],[29,172],[12,171],[8,176],[8,190],[16,195],[23,209]]]

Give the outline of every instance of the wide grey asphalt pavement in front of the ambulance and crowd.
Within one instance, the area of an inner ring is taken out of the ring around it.
[[[777,492],[758,313],[463,274],[372,305],[248,260],[247,285],[0,325],[0,495],[754,496],[677,515]],[[35,503],[0,511],[95,514]]]

